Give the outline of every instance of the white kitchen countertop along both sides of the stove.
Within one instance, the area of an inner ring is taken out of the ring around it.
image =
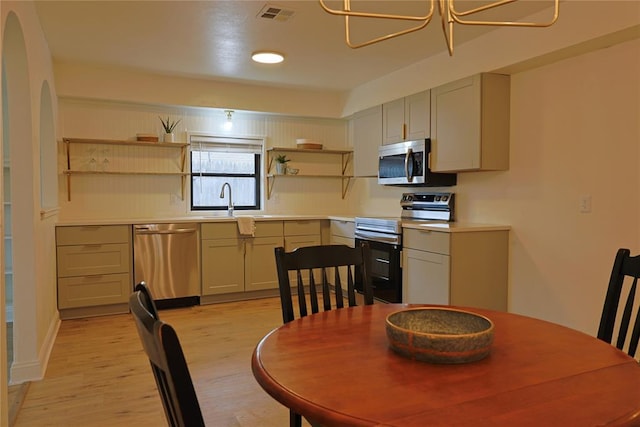
[[[253,217],[256,221],[306,221],[306,220],[335,220],[353,222],[354,217],[342,215],[251,215],[239,214],[232,217],[226,215],[190,215],[172,218],[129,218],[113,220],[68,220],[59,221],[58,226],[90,226],[90,225],[137,225],[137,224],[162,224],[180,222],[229,222],[235,221],[238,217]],[[469,231],[506,231],[511,227],[499,224],[476,224],[468,222],[425,222],[416,220],[403,220],[403,228],[423,231],[439,231],[445,233],[469,232]]]

